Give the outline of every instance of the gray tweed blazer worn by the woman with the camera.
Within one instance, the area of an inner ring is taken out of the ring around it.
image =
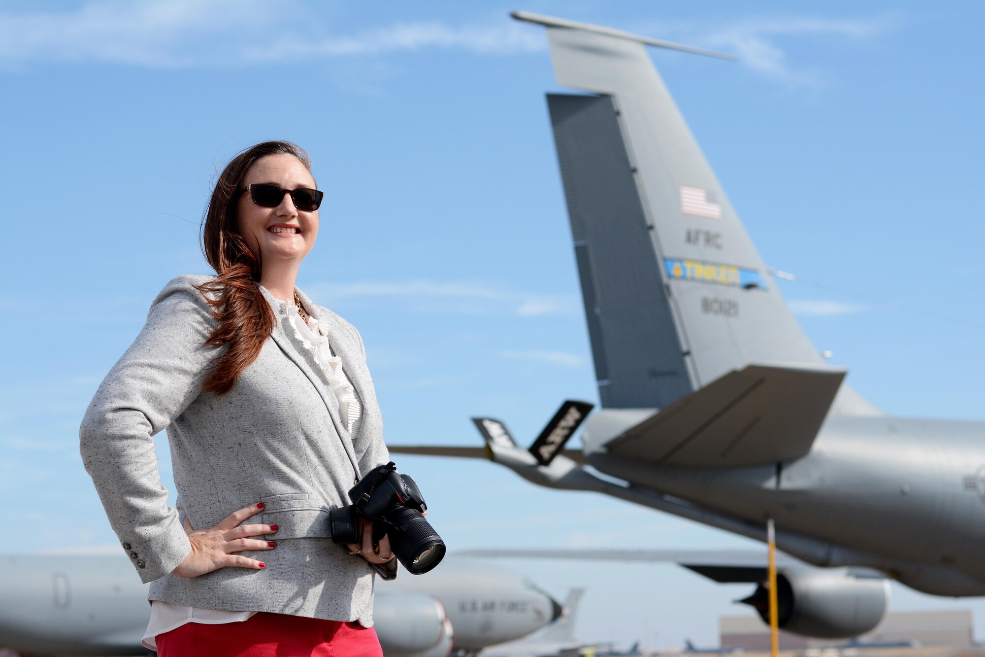
[[[203,393],[217,353],[203,343],[216,321],[192,284],[208,279],[184,275],[164,286],[86,411],[83,463],[109,523],[141,580],[153,582],[151,600],[371,625],[373,569],[333,544],[327,523],[330,509],[349,503],[361,473],[389,459],[360,333],[297,291],[305,308],[328,324],[332,348],[360,397],[359,435],[349,434],[328,383],[296,346],[278,304],[273,333],[236,386],[222,396]],[[153,436],[162,429],[176,508],[167,505],[155,456]],[[279,525],[267,537],[277,547],[240,553],[264,561],[265,569],[170,574],[191,549],[181,527],[185,517],[194,529],[206,529],[260,501],[264,511],[245,524]]]

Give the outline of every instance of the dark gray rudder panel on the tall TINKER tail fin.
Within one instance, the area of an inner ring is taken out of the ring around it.
[[[574,255],[606,408],[662,408],[692,390],[686,347],[613,101],[549,94]]]

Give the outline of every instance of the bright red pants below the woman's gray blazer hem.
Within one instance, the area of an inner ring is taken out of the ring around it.
[[[359,622],[260,612],[242,622],[186,622],[158,634],[158,657],[383,657]]]

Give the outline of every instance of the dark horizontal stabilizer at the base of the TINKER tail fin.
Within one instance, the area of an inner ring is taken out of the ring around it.
[[[613,456],[657,466],[739,468],[797,459],[810,451],[844,376],[826,366],[749,365],[605,446]]]

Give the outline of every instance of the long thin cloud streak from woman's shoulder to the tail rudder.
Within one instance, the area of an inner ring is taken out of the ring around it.
[[[473,283],[427,280],[315,283],[306,288],[329,302],[349,298],[387,297],[411,304],[418,312],[483,315],[506,313],[523,317],[575,315],[573,296],[515,292]]]

